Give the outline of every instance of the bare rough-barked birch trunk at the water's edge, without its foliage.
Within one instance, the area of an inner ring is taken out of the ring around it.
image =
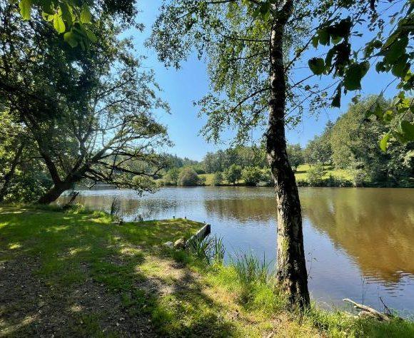
[[[284,26],[291,16],[287,1],[271,32],[271,100],[266,150],[278,203],[278,258],[276,277],[291,304],[309,304],[308,274],[303,251],[301,202],[295,175],[288,162],[285,137],[286,73],[283,63]],[[283,16],[286,14],[286,17]]]

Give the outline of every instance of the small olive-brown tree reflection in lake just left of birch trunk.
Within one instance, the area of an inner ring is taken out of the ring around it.
[[[276,217],[276,200],[274,198],[248,198],[204,200],[208,213],[221,218],[231,217],[238,222],[268,222]]]

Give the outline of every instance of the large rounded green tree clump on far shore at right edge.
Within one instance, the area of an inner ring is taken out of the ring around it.
[[[387,130],[372,117],[367,119],[373,103],[380,103],[381,109],[393,109],[389,101],[378,101],[376,96],[351,104],[332,129],[333,163],[337,168],[352,170],[355,185],[378,182],[399,185],[413,175],[410,153],[414,143],[390,141],[388,153],[380,150],[378,142]]]

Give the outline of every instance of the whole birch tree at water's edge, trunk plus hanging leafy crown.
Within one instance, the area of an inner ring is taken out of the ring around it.
[[[294,66],[310,42],[310,20],[333,17],[331,1],[165,1],[149,41],[167,66],[178,67],[196,49],[206,55],[212,92],[199,101],[208,122],[201,133],[218,140],[226,126],[243,142],[263,126],[278,203],[279,287],[292,304],[309,304],[301,204],[286,153],[286,123],[301,121],[325,103],[325,88],[294,78]],[[309,80],[309,81],[307,81]],[[268,114],[266,113],[268,112]]]

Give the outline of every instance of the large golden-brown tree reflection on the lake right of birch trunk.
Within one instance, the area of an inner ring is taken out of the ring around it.
[[[303,217],[343,248],[367,277],[398,282],[414,274],[414,205],[410,190],[308,189]]]

